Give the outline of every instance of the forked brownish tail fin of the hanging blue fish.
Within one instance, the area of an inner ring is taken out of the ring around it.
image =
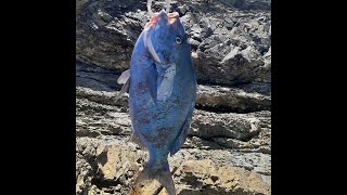
[[[157,180],[168,192],[169,195],[176,195],[175,183],[170,173],[168,161],[162,161],[160,165],[149,161],[139,173],[134,185],[145,180]]]

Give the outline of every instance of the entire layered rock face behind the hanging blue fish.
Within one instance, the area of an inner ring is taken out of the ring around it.
[[[163,9],[154,1],[152,9]],[[189,136],[169,157],[177,194],[271,194],[271,2],[178,0],[198,79]],[[146,0],[76,1],[76,194],[166,194],[132,188],[147,154],[128,142],[120,73]]]

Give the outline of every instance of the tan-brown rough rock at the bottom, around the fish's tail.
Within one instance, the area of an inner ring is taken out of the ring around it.
[[[128,194],[147,158],[146,153],[133,144],[112,136],[78,139],[76,155],[83,159],[76,164],[76,169],[80,170],[77,172],[77,194]],[[216,162],[204,155],[182,150],[169,157],[171,169],[176,168],[177,194],[270,194],[269,184],[257,171],[236,167],[233,161]],[[152,181],[137,187],[136,192],[164,195],[165,190],[159,190],[160,185]]]

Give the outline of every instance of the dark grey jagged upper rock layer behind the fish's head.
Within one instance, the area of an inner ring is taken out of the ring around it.
[[[270,82],[270,2],[230,3],[244,10],[230,9],[218,1],[171,3],[190,35],[198,81],[229,86]],[[158,11],[164,2],[153,4],[153,10]],[[127,69],[136,40],[150,18],[146,1],[85,0],[77,1],[76,9],[77,60],[118,73]]]

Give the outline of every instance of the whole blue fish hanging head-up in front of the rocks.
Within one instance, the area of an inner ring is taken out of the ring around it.
[[[130,70],[118,78],[129,87],[131,138],[149,151],[134,184],[156,179],[170,195],[175,184],[168,154],[187,139],[196,99],[196,78],[188,35],[177,12],[162,10],[146,24],[134,46]]]

